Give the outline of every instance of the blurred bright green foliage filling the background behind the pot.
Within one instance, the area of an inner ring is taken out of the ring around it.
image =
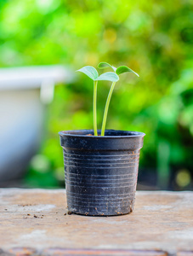
[[[191,0],[1,0],[0,66],[64,64],[75,71],[100,61],[139,73],[116,84],[107,129],[144,131],[139,185],[192,189],[193,4]],[[58,131],[92,129],[93,84],[75,73],[56,86],[48,132],[31,160],[28,186],[64,186]],[[109,83],[98,87],[98,124]]]

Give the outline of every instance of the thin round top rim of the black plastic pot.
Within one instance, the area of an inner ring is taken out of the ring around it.
[[[100,132],[101,130],[98,130]],[[105,130],[110,131],[110,132],[120,132],[120,133],[125,133],[126,135],[114,135],[114,136],[88,136],[90,133],[94,133],[94,130],[89,130],[89,129],[82,129],[82,130],[69,130],[69,131],[60,131],[59,135],[61,137],[67,136],[67,137],[86,137],[86,138],[97,138],[97,139],[106,139],[106,138],[127,138],[127,137],[145,137],[144,132],[140,131],[123,131],[123,130]],[[78,132],[85,132],[85,134],[78,134]],[[131,133],[131,134],[127,134]]]

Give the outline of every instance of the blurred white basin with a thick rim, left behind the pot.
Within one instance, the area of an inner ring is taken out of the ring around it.
[[[54,84],[73,76],[63,66],[0,68],[0,184],[22,176],[41,143]]]

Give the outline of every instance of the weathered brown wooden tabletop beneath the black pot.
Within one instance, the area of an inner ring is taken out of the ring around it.
[[[129,215],[67,213],[65,190],[0,189],[0,256],[193,255],[193,192],[139,191]]]

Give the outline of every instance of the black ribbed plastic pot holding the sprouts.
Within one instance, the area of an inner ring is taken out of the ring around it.
[[[59,134],[68,210],[94,216],[133,212],[145,133],[107,130],[105,137],[95,137],[93,130],[80,130]]]

